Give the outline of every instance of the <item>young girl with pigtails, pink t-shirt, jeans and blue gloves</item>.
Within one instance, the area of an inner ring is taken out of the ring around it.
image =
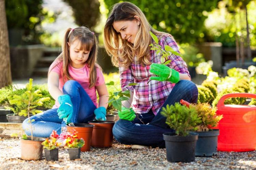
[[[86,27],[66,30],[62,52],[49,67],[48,90],[56,103],[52,109],[31,117],[34,136],[49,137],[53,130],[65,133],[69,122],[106,120],[108,91],[97,64],[94,32]],[[25,133],[31,135],[28,119],[22,126]]]

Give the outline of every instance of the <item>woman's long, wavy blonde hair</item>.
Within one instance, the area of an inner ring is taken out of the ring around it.
[[[117,33],[113,27],[114,21],[131,21],[134,16],[139,17],[140,25],[134,44],[123,40],[121,34]],[[108,16],[104,27],[104,45],[106,52],[111,56],[113,65],[122,64],[128,67],[133,62],[134,56],[137,61],[144,65],[150,65],[150,47],[151,35],[150,31],[155,35],[164,35],[167,33],[156,31],[148,23],[145,15],[138,6],[130,2],[116,3]]]

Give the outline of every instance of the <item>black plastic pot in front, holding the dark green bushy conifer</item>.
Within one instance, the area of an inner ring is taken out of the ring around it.
[[[198,134],[189,133],[189,136],[177,136],[173,133],[164,133],[166,155],[169,162],[191,162],[195,160],[196,141]]]

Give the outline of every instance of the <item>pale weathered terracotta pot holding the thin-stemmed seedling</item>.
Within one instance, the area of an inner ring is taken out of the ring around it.
[[[43,155],[42,142],[44,138],[33,137],[28,139],[20,139],[21,158],[24,160],[41,160]]]

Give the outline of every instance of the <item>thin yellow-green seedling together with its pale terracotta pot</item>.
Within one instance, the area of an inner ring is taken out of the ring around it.
[[[44,138],[39,137],[33,137],[33,128],[32,128],[32,122],[33,120],[30,120],[29,113],[36,114],[34,106],[33,106],[33,98],[35,96],[38,96],[38,91],[34,91],[32,89],[32,82],[33,79],[29,79],[29,83],[27,83],[27,91],[25,92],[25,96],[17,96],[15,98],[17,103],[25,103],[28,107],[26,110],[21,110],[20,115],[24,115],[25,117],[28,116],[28,122],[30,124],[31,129],[31,137],[27,137],[26,135],[22,136],[21,141],[21,158],[24,160],[41,160],[42,159],[42,153],[43,153],[43,145],[42,142],[45,140]],[[32,105],[32,106],[31,106]]]

